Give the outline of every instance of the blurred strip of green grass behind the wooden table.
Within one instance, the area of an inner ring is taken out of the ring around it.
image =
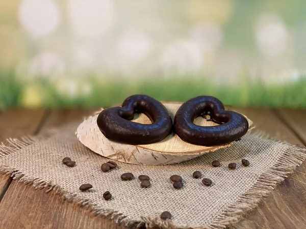
[[[107,107],[120,104],[133,94],[146,94],[161,101],[181,102],[199,95],[210,95],[219,98],[224,104],[240,107],[306,108],[305,77],[301,77],[298,82],[277,85],[253,81],[248,77],[243,77],[241,82],[232,86],[215,85],[201,78],[175,77],[135,82],[88,76],[86,82],[91,87],[91,93],[71,97],[60,94],[54,84],[45,78],[22,81],[16,78],[13,71],[0,71],[0,107],[29,107],[31,101],[24,102],[24,91],[34,85],[36,92],[31,97],[37,100],[34,106],[47,108]]]

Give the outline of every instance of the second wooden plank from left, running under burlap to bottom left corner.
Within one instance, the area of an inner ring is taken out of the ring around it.
[[[73,109],[52,111],[42,130],[73,120],[83,120],[92,111]],[[124,228],[112,220],[96,217],[89,211],[65,202],[54,192],[35,190],[32,186],[13,181],[9,195],[0,204],[0,228]]]

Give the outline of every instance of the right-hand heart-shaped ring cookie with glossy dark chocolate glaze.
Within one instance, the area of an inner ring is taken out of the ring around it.
[[[193,123],[201,115],[210,115],[220,125],[207,127]],[[211,96],[199,96],[183,103],[174,117],[175,132],[182,140],[194,145],[215,146],[242,137],[248,130],[247,120],[234,111],[224,110],[220,100]]]

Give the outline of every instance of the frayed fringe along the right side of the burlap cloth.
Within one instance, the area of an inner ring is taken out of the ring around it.
[[[278,183],[284,181],[293,170],[302,164],[306,159],[306,149],[291,145],[287,142],[272,139],[269,135],[263,132],[254,133],[260,138],[269,138],[277,144],[282,144],[288,147],[284,154],[263,173],[256,183],[244,194],[242,194],[235,204],[227,207],[221,213],[221,216],[209,226],[176,226],[171,220],[163,221],[159,217],[141,217],[148,227],[159,226],[167,229],[219,229],[237,223],[249,211],[255,209]]]

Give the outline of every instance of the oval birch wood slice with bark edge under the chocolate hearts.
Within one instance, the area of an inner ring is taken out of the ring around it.
[[[182,103],[163,102],[163,104],[170,112],[173,120],[177,109],[179,109]],[[231,110],[235,111],[232,107]],[[141,165],[174,164],[193,159],[202,154],[213,152],[221,148],[230,147],[234,143],[230,142],[229,144],[213,147],[197,146],[189,144],[183,141],[176,134],[171,133],[164,140],[154,144],[138,146],[120,144],[119,142],[109,140],[100,132],[96,124],[99,112],[100,111],[85,119],[84,122],[79,125],[76,134],[78,139],[87,148],[112,160]],[[250,130],[253,128],[253,123],[247,117],[246,119],[249,123]],[[151,123],[151,121],[142,113],[135,116],[133,122],[144,124]],[[200,126],[218,125],[214,122],[207,121],[202,117],[196,118],[194,123]]]

